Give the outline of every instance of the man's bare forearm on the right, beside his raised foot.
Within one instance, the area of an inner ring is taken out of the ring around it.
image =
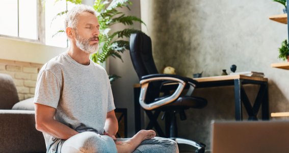
[[[115,136],[118,131],[118,122],[114,110],[108,112],[106,124],[104,124],[104,131],[109,135]]]

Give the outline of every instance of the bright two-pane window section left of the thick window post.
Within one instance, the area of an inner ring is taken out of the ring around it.
[[[6,1],[0,14],[0,35],[38,40],[37,0]]]

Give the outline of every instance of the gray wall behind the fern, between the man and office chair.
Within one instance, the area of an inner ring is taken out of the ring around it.
[[[140,16],[140,1],[133,0],[132,6],[129,6],[130,11],[126,8],[121,9],[127,15]],[[112,32],[123,28],[135,28],[140,30],[140,23],[134,23],[133,27],[124,26],[122,24],[115,24],[112,27]],[[134,84],[139,82],[137,73],[134,70],[133,64],[130,60],[129,52],[126,51],[122,54],[123,62],[119,59],[109,58],[109,73],[117,74],[121,78],[112,84],[112,91],[117,108],[127,109],[127,124],[128,124],[128,136],[132,137],[135,135],[135,112],[134,112]]]

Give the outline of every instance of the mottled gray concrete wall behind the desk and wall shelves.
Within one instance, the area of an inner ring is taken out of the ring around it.
[[[209,77],[220,75],[222,69],[229,73],[235,64],[237,72],[264,72],[269,79],[270,113],[288,112],[289,71],[270,66],[282,62],[278,47],[287,39],[287,25],[268,17],[282,14],[282,9],[278,3],[262,0],[145,0],[141,17],[147,26],[142,30],[152,39],[159,71],[172,66],[179,75],[192,77],[203,71],[203,77]],[[245,89],[254,100],[258,86]],[[209,148],[211,120],[234,119],[233,87],[196,89],[193,94],[205,97],[208,106],[186,111],[188,119],[178,120],[179,136]]]

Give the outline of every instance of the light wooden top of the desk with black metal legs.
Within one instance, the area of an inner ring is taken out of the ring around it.
[[[226,81],[226,80],[235,80],[235,79],[245,79],[245,80],[254,80],[254,81],[264,81],[268,82],[267,78],[262,77],[248,77],[246,75],[221,75],[214,77],[203,77],[203,78],[194,78],[197,82],[212,82],[212,81]]]

